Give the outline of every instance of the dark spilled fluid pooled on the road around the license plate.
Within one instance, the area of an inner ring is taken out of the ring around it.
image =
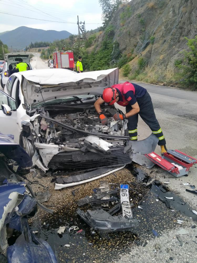
[[[132,253],[134,246],[145,246],[147,241],[155,236],[154,233],[160,236],[164,230],[180,226],[177,225],[177,219],[184,217],[183,221],[186,221],[191,217],[193,220],[197,220],[197,216],[191,211],[192,208],[165,186],[156,181],[146,187],[143,183],[146,183],[149,178],[142,170],[134,169],[131,165],[127,169],[136,177],[136,180],[119,182],[118,176],[114,176],[108,182],[117,184],[111,185],[112,189],[118,184],[120,186],[120,183],[129,185],[129,197],[133,203],[133,218],[140,220],[139,226],[131,231],[96,232],[90,229],[76,213],[69,214],[69,207],[62,208],[44,222],[34,219],[31,229],[38,231],[37,235],[46,240],[58,253],[60,262],[115,262],[124,253],[130,251]],[[165,197],[173,197],[173,199]],[[138,206],[142,209],[139,209]],[[91,209],[91,206],[85,205],[81,209],[86,211]],[[57,233],[60,226],[67,225],[69,227],[75,225],[79,227],[79,230],[82,229],[82,232],[69,233],[68,227],[63,234]],[[65,247],[65,245],[67,246]]]

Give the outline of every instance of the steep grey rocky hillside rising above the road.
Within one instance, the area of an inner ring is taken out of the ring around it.
[[[120,53],[111,56],[114,64],[109,67],[128,63],[127,78],[138,76],[139,81],[170,85],[178,74],[174,62],[183,58],[181,51],[188,49],[185,37],[191,39],[197,34],[196,10],[196,0],[132,0],[118,9],[94,41],[94,52],[97,55],[103,49],[106,31],[111,27],[116,49],[113,55],[118,49]],[[170,83],[165,81],[168,79]]]

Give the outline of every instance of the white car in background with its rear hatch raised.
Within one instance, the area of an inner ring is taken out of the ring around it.
[[[30,53],[7,53],[6,56],[6,62],[3,65],[3,69],[1,72],[1,87],[4,88],[9,77],[16,72],[19,72],[18,69],[16,69],[16,63],[18,63],[19,58],[23,59],[23,62],[27,63],[28,69],[32,69],[30,62]],[[27,70],[28,70],[27,69]]]

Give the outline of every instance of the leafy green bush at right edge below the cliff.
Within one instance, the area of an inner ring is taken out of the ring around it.
[[[187,85],[192,85],[193,89],[197,89],[197,36],[193,39],[188,39],[187,45],[190,51],[184,50],[183,61],[185,64],[177,65],[178,68],[183,69],[184,81]]]

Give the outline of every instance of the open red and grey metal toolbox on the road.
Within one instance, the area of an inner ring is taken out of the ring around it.
[[[145,154],[145,156],[175,177],[187,175],[189,168],[197,163],[197,159],[179,150],[167,150],[164,156],[159,156],[154,152]]]

